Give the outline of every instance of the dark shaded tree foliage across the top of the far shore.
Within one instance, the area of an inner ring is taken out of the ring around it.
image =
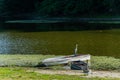
[[[118,16],[120,0],[1,0],[1,8],[12,18],[34,14],[49,17]],[[1,5],[3,4],[3,5]],[[27,6],[26,6],[27,5]],[[3,7],[4,6],[4,7]],[[1,11],[1,9],[0,9]],[[31,14],[34,13],[34,14]],[[34,15],[34,17],[36,17]]]

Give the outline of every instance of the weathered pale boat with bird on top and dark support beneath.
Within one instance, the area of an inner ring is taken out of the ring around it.
[[[84,73],[88,73],[90,66],[90,55],[78,55],[76,45],[74,55],[48,58],[42,61],[42,66],[53,66],[60,64],[67,64],[73,70],[83,70]]]

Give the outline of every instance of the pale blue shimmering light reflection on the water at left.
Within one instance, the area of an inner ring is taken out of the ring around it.
[[[33,49],[38,41],[34,39],[23,38],[23,35],[13,32],[0,33],[0,54],[27,54],[36,53]]]

